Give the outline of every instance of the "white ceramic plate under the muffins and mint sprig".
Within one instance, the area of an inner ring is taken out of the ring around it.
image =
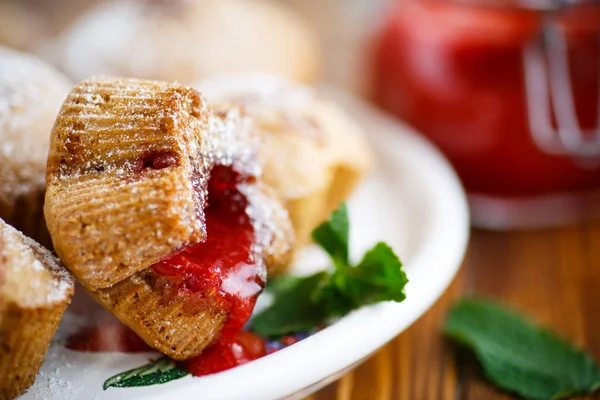
[[[228,77],[202,85],[209,99],[223,91],[259,87],[275,78]],[[156,355],[80,353],[54,343],[26,399],[276,399],[298,398],[333,381],[393,339],[423,314],[456,273],[468,237],[464,192],[449,164],[425,139],[365,103],[325,89],[364,127],[378,166],[349,202],[351,249],[362,253],[385,240],[401,256],[408,277],[407,299],[357,310],[337,323],[249,364],[202,378],[190,376],[142,388],[109,388],[103,382],[147,363]],[[320,266],[315,249],[296,271]],[[61,332],[71,330],[67,315]],[[60,335],[59,335],[60,337]]]

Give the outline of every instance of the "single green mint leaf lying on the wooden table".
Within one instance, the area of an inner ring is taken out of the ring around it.
[[[526,399],[563,399],[600,389],[600,370],[589,354],[491,301],[461,301],[444,330],[475,353],[492,383]]]

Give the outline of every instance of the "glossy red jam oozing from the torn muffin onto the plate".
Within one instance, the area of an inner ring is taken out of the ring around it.
[[[255,252],[256,235],[248,200],[238,185],[250,183],[228,166],[213,168],[208,182],[207,238],[152,268],[173,281],[180,294],[216,299],[227,312],[220,336],[204,352],[182,363],[193,375],[223,371],[266,354],[264,343],[241,332],[264,287],[264,265]]]

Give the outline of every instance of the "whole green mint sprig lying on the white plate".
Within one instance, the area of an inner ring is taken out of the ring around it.
[[[398,256],[387,244],[377,243],[357,266],[348,264],[349,225],[342,204],[313,231],[317,243],[331,256],[333,272],[270,281],[267,289],[275,299],[252,320],[254,332],[278,337],[308,331],[363,305],[405,299],[408,279]]]

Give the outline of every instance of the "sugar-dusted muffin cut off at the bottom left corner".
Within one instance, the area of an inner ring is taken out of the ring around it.
[[[33,384],[72,294],[58,259],[0,219],[0,399]]]

